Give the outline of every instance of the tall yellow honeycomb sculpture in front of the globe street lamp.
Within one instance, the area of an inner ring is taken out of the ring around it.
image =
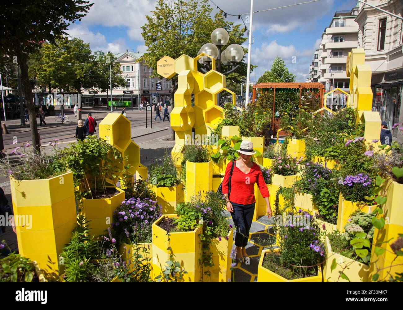
[[[206,56],[212,60],[212,70],[203,74],[197,71],[197,61]],[[159,62],[165,62],[165,59],[166,56]],[[174,72],[178,74],[178,89],[174,94],[175,107],[171,112],[171,127],[175,131],[172,159],[177,167],[181,165],[181,151],[186,136],[192,135],[192,128],[195,128],[196,135],[207,135],[223,118],[224,110],[217,105],[217,95],[223,90],[228,90],[225,88],[225,76],[215,69],[215,59],[206,54],[199,54],[195,58],[181,55],[174,61]],[[161,76],[171,73],[166,70],[168,69],[164,66],[157,66],[157,72]],[[194,106],[191,103],[192,94],[195,98]]]

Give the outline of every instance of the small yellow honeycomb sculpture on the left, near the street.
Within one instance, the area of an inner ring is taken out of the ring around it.
[[[140,164],[140,147],[131,140],[130,121],[123,114],[109,113],[99,124],[100,137],[116,147],[123,156],[123,162],[117,162],[119,172],[116,177],[121,177],[125,166],[130,175],[134,175]]]

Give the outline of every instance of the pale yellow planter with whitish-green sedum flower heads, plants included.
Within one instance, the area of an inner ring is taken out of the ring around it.
[[[355,212],[344,226],[344,233],[327,234],[324,273],[328,281],[368,281],[374,229],[372,215]]]

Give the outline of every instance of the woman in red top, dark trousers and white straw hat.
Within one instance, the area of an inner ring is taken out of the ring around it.
[[[258,184],[260,193],[266,200],[266,213],[268,217],[272,216],[272,209],[269,201],[269,191],[264,182],[262,170],[259,165],[250,161],[251,156],[256,152],[253,151],[253,143],[242,141],[238,151],[240,158],[235,161],[233,174],[231,177],[231,191],[228,197],[228,182],[231,173],[232,161],[225,170],[224,180],[222,181],[222,194],[226,197],[226,208],[231,212],[231,217],[237,227],[235,235],[235,246],[237,251],[237,259],[244,262],[244,258],[248,257],[246,253],[246,245],[249,238],[249,229],[252,225],[253,213],[255,211],[255,183]]]

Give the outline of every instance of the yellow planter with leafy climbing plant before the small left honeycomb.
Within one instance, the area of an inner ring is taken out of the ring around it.
[[[78,141],[66,153],[64,162],[73,171],[80,212],[91,221],[91,233],[101,235],[125,199],[125,192],[116,186],[122,154],[97,136]]]

